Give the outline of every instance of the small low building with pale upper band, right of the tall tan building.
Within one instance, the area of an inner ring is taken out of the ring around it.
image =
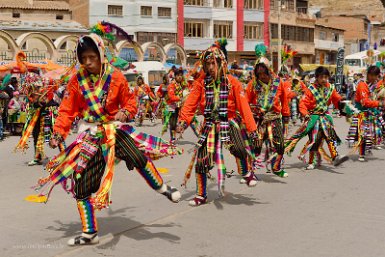
[[[314,32],[315,63],[336,64],[337,52],[344,45],[344,30],[316,24]]]

